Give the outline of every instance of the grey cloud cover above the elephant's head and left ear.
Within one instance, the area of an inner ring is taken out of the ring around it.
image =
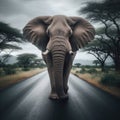
[[[0,0],[0,20],[21,29],[36,16],[72,14],[69,2],[54,0]],[[74,14],[73,13],[73,14]]]

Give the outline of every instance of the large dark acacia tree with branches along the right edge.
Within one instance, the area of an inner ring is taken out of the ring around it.
[[[105,0],[101,3],[87,2],[80,12],[87,14],[87,18],[94,22],[101,22],[104,26],[104,41],[110,56],[115,63],[116,71],[120,71],[120,1]],[[111,34],[112,33],[112,34]],[[110,44],[108,44],[110,43]]]

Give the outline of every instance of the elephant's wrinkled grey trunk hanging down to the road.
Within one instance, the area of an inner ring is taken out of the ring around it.
[[[65,55],[66,55],[66,49],[64,47],[56,46],[52,50],[56,92],[59,97],[65,95],[63,88],[63,69],[64,69]]]

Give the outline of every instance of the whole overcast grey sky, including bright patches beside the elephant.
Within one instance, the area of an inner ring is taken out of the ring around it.
[[[86,1],[93,0],[0,0],[0,21],[9,23],[22,31],[26,23],[36,16],[57,14],[80,16],[78,10],[85,5]],[[31,44],[24,44],[22,47],[24,51],[16,51],[13,54],[23,52],[40,54],[40,51]],[[88,55],[78,53],[76,58],[87,59]],[[91,56],[89,58],[94,59]]]

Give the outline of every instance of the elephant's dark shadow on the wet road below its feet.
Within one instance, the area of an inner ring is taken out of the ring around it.
[[[77,120],[78,115],[73,111],[70,105],[71,101],[52,101],[49,100],[47,108],[39,119],[43,120]]]

